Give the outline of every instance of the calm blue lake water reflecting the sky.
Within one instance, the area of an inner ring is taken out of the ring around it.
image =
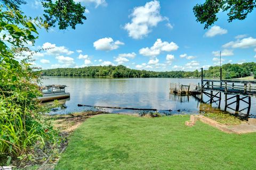
[[[89,107],[78,107],[77,104],[92,106],[114,106],[133,108],[155,108],[159,110],[172,110],[172,114],[195,114],[198,111],[217,110],[218,104],[202,104],[193,96],[177,96],[170,94],[170,83],[180,83],[184,85],[198,84],[200,79],[170,79],[170,78],[77,78],[77,77],[45,77],[43,85],[65,84],[66,91],[70,92],[70,99],[61,100],[66,108],[61,109],[58,114],[84,111],[92,109]],[[198,96],[199,97],[199,96]],[[224,97],[224,95],[222,95]],[[207,101],[204,96],[204,101]],[[252,97],[250,114],[256,115],[256,98]],[[225,100],[221,100],[220,109],[225,107]],[[235,105],[231,105],[235,108]],[[241,104],[240,108],[247,107]],[[111,113],[138,113],[138,111],[103,109]],[[230,113],[231,111],[228,109]],[[246,114],[245,109],[241,114]]]

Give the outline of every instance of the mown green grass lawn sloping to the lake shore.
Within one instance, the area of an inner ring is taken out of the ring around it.
[[[256,133],[227,134],[189,116],[98,115],[71,135],[55,169],[256,169]]]

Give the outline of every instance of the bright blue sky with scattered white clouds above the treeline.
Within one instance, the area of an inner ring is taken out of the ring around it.
[[[196,22],[193,6],[204,1],[75,0],[86,6],[87,20],[76,29],[39,30],[31,49],[54,47],[33,56],[35,66],[84,67],[125,65],[153,71],[194,71],[201,67],[255,62],[255,11],[243,21],[225,13],[209,29]],[[38,0],[22,6],[29,16],[42,16]]]

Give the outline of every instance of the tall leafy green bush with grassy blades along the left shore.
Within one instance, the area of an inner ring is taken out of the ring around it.
[[[29,57],[18,61],[28,42],[34,44],[42,19],[31,19],[17,8],[0,7],[0,157],[28,158],[33,145],[55,141],[55,131],[39,116],[39,72]]]

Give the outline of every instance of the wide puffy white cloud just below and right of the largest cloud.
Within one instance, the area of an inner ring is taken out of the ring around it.
[[[157,39],[154,45],[150,48],[141,48],[139,53],[143,56],[154,57],[159,55],[161,52],[171,52],[177,50],[179,46],[173,42],[168,43],[167,41],[162,42],[161,39]]]

